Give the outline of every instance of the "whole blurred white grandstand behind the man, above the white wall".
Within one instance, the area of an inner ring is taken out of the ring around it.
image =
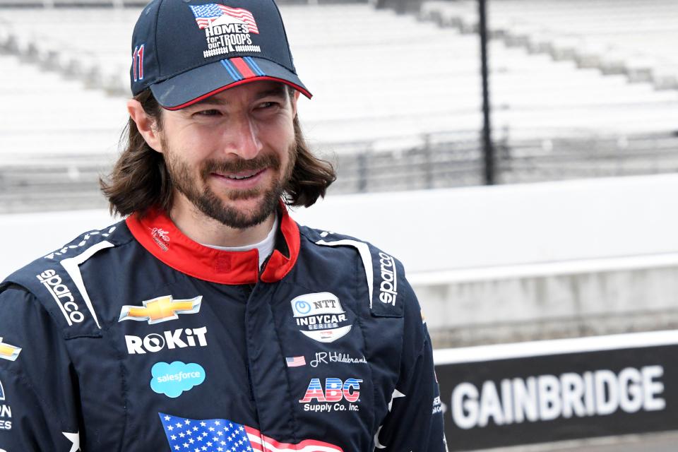
[[[96,175],[109,167],[124,125],[127,47],[140,2],[35,4],[43,7],[32,8],[28,21],[30,2],[0,4],[2,64],[11,69],[3,71],[11,80],[1,89],[13,106],[1,126],[3,209],[46,208],[34,203],[45,189],[47,198],[69,199],[63,206],[97,206]],[[672,2],[652,0],[642,8],[608,0],[490,5],[499,182],[677,167]],[[297,69],[315,95],[299,107],[304,129],[316,152],[338,161],[335,193],[482,183],[475,1],[426,2],[423,22],[367,4],[282,9]],[[614,13],[603,18],[606,11]],[[647,25],[655,16],[662,21]],[[632,27],[634,18],[646,25]],[[636,43],[638,33],[646,44]],[[616,58],[622,58],[618,69],[610,63]],[[643,72],[637,61],[654,65]],[[59,94],[54,108],[40,110],[41,130],[35,131],[31,124],[38,118],[25,101],[38,84]],[[85,105],[87,121],[77,117]],[[27,141],[29,131],[35,133]],[[13,161],[8,153],[22,157]],[[27,154],[32,157],[23,160]],[[44,168],[37,178],[28,176],[36,172],[34,161]],[[76,196],[73,186],[64,186],[73,180],[80,183]]]

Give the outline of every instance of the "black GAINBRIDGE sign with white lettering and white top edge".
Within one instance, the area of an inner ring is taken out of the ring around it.
[[[678,429],[678,331],[436,350],[450,451]]]

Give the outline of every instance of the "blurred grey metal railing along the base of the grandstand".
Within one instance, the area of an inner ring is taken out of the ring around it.
[[[420,137],[420,145],[375,150],[353,143],[352,151],[315,145],[333,162],[338,180],[330,194],[441,189],[483,184],[483,154],[476,140]],[[441,138],[442,137],[442,138]],[[111,155],[35,155],[0,165],[0,213],[105,206],[98,179]],[[588,177],[678,172],[678,134],[576,136],[496,142],[497,181],[502,184]]]

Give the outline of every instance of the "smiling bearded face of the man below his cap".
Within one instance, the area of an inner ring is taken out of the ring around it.
[[[238,229],[266,220],[295,165],[296,101],[282,83],[258,81],[163,111],[173,207],[190,203]]]

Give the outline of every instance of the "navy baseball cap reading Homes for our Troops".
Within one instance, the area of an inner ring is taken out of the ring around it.
[[[166,109],[259,80],[311,93],[297,76],[273,0],[153,0],[132,36],[133,95],[150,88]]]

